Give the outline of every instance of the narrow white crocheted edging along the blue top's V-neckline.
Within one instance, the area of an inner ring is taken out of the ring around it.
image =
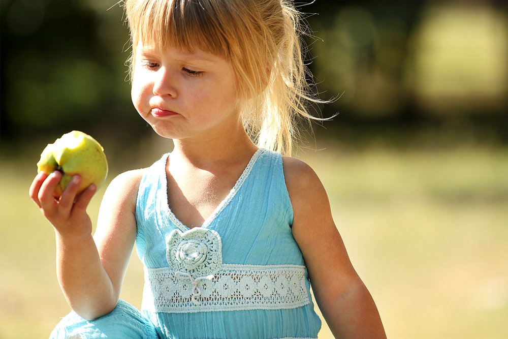
[[[254,155],[252,156],[252,158],[250,158],[250,161],[248,162],[247,166],[245,167],[245,169],[243,170],[242,174],[240,175],[240,177],[238,178],[238,180],[236,180],[236,183],[235,183],[235,186],[233,186],[233,188],[231,189],[231,191],[228,193],[228,195],[226,196],[226,198],[224,198],[218,205],[217,207],[215,207],[215,209],[213,210],[213,212],[208,216],[208,218],[205,219],[205,221],[203,222],[203,224],[201,226],[196,226],[196,227],[193,227],[193,228],[189,228],[187,227],[186,225],[184,225],[175,215],[175,213],[173,213],[173,211],[171,210],[171,208],[169,207],[169,199],[168,199],[168,178],[167,178],[167,174],[166,174],[166,166],[167,166],[167,163],[168,163],[168,158],[170,157],[171,153],[167,153],[167,155],[165,156],[165,161],[163,161],[163,170],[162,170],[162,178],[161,178],[161,187],[160,187],[160,190],[162,192],[160,192],[160,197],[161,199],[163,199],[162,203],[163,203],[163,208],[165,209],[165,212],[166,212],[166,215],[168,215],[169,219],[171,220],[171,222],[176,226],[178,227],[181,231],[185,232],[185,231],[188,231],[190,229],[194,229],[194,228],[207,228],[216,218],[217,216],[220,214],[220,212],[223,211],[223,209],[231,202],[231,200],[233,200],[233,198],[235,197],[236,193],[240,190],[240,188],[243,186],[243,183],[245,182],[245,180],[247,179],[247,177],[249,176],[250,174],[250,171],[252,170],[252,167],[256,164],[256,161],[258,160],[259,156],[261,155],[261,153],[263,153],[265,151],[265,149],[263,148],[260,148],[258,149]]]

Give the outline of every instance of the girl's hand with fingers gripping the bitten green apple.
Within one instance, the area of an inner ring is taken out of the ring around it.
[[[58,171],[50,175],[39,173],[30,186],[31,199],[39,206],[41,213],[60,236],[76,239],[81,236],[90,236],[92,226],[86,207],[97,191],[96,186],[92,184],[83,193],[77,195],[81,177],[75,175],[61,197],[55,198],[53,192],[60,179],[61,173]]]

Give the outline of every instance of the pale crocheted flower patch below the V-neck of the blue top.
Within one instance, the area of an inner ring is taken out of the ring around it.
[[[222,266],[222,242],[217,232],[193,228],[173,230],[166,238],[166,258],[175,272],[197,277],[216,273]]]

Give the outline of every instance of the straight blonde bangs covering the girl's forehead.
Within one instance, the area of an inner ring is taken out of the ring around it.
[[[126,1],[125,12],[134,48],[139,42],[190,52],[199,48],[230,59],[225,32],[210,0]]]

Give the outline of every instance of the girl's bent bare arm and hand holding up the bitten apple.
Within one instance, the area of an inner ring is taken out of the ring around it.
[[[30,187],[30,197],[55,229],[60,287],[71,308],[85,319],[111,312],[118,302],[136,236],[139,177],[138,172],[128,172],[111,182],[101,203],[95,241],[86,213],[94,186],[76,196],[80,178],[75,176],[57,201],[53,192],[61,174],[55,172],[40,173]]]

